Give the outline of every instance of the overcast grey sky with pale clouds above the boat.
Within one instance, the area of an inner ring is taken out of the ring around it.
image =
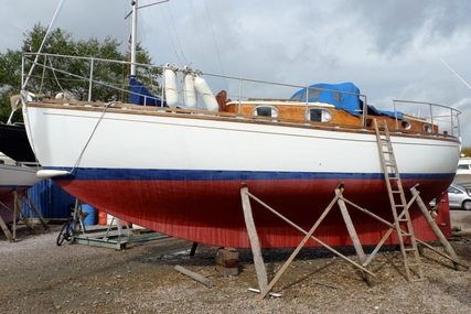
[[[49,25],[60,0],[2,2],[4,53],[20,50],[35,23]],[[126,48],[130,2],[65,0],[55,26]],[[170,0],[139,10],[138,41],[156,64],[297,85],[352,82],[379,108],[392,99],[451,106],[471,147],[471,89],[440,61],[471,85],[470,13],[462,0]]]

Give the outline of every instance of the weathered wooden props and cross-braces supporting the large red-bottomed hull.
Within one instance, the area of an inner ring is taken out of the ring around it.
[[[338,186],[338,188],[335,188],[335,196],[332,198],[331,203],[329,204],[329,206],[324,209],[324,212],[322,213],[322,215],[319,217],[319,219],[315,221],[315,224],[312,226],[312,228],[309,231],[303,230],[301,227],[297,226],[295,223],[290,221],[289,219],[287,219],[286,217],[283,217],[281,214],[279,214],[278,212],[276,212],[274,208],[271,208],[270,206],[268,206],[267,204],[265,204],[264,202],[261,202],[259,198],[257,198],[255,195],[250,194],[248,192],[248,187],[243,184],[242,188],[240,188],[240,196],[242,196],[242,204],[243,204],[243,209],[244,209],[244,217],[245,217],[245,223],[246,223],[246,227],[247,227],[247,232],[248,232],[248,237],[249,237],[249,241],[250,241],[250,246],[251,246],[251,251],[254,255],[254,264],[255,264],[255,270],[257,273],[257,279],[258,279],[258,285],[259,285],[259,290],[260,290],[260,295],[257,299],[258,301],[264,300],[268,293],[270,292],[270,290],[272,289],[272,286],[276,284],[276,282],[279,280],[279,278],[282,275],[282,273],[286,271],[286,269],[289,267],[289,264],[292,262],[292,260],[296,258],[296,256],[299,253],[299,251],[301,250],[301,248],[306,245],[306,242],[311,238],[314,241],[317,241],[319,245],[321,245],[322,247],[327,248],[328,250],[330,250],[331,252],[333,252],[334,255],[336,255],[338,257],[344,259],[345,261],[347,261],[349,263],[353,264],[354,267],[358,268],[360,270],[363,271],[364,273],[364,278],[367,281],[368,285],[373,286],[376,281],[376,277],[373,272],[371,272],[367,267],[370,264],[370,262],[373,260],[374,256],[378,252],[378,250],[381,249],[381,247],[383,246],[383,243],[386,241],[386,239],[389,237],[389,235],[396,230],[398,232],[398,235],[403,235],[406,231],[403,230],[403,226],[400,226],[399,229],[397,229],[397,226],[393,223],[389,223],[385,219],[383,219],[382,217],[375,215],[374,213],[362,208],[360,206],[357,206],[356,204],[350,202],[349,199],[343,197],[343,184],[340,184]],[[458,260],[457,255],[454,253],[453,249],[451,248],[451,246],[448,243],[448,240],[446,239],[446,237],[442,235],[441,230],[438,228],[438,226],[436,225],[433,218],[430,216],[430,214],[427,210],[427,207],[425,206],[424,202],[421,201],[418,191],[416,190],[416,186],[410,188],[410,192],[413,193],[413,198],[409,202],[409,205],[413,202],[417,202],[417,204],[419,205],[424,216],[426,217],[427,223],[429,224],[429,226],[431,227],[431,229],[433,230],[433,232],[436,234],[437,238],[440,240],[440,242],[442,243],[445,250],[447,251],[448,255],[438,251],[437,249],[435,249],[433,247],[429,246],[428,243],[415,238],[417,240],[417,242],[419,242],[420,245],[431,249],[432,251],[439,253],[440,256],[451,260],[456,267],[457,270],[464,270],[464,268],[461,268],[461,266],[465,267],[465,264],[461,261]],[[264,206],[265,208],[267,208],[268,210],[270,210],[271,213],[274,213],[275,215],[277,215],[279,218],[281,218],[282,220],[285,220],[286,223],[288,223],[289,225],[291,225],[293,228],[298,229],[299,231],[301,231],[302,234],[304,234],[304,238],[302,239],[302,241],[299,243],[299,246],[295,249],[295,251],[291,253],[291,256],[289,257],[289,259],[285,262],[285,264],[280,268],[280,270],[277,272],[277,274],[275,275],[275,278],[271,280],[271,282],[268,284],[268,280],[267,280],[267,272],[266,272],[266,268],[265,268],[265,263],[263,260],[263,256],[261,256],[261,250],[260,250],[260,245],[259,245],[259,240],[258,240],[258,236],[257,236],[257,231],[256,231],[256,226],[253,219],[253,215],[251,215],[251,206],[250,206],[250,198],[254,199],[255,202],[257,202],[258,204],[260,204],[261,206]],[[323,241],[321,241],[320,239],[315,238],[313,236],[315,229],[319,227],[319,225],[322,223],[322,220],[325,218],[325,216],[329,214],[329,212],[332,209],[332,207],[335,205],[335,203],[339,205],[340,210],[342,212],[342,216],[344,219],[344,223],[347,227],[350,237],[352,239],[353,246],[355,248],[356,255],[360,259],[361,264],[356,263],[355,261],[349,259],[347,257],[343,256],[342,253],[340,253],[339,251],[336,251],[335,249],[331,248],[330,246],[328,246],[327,243],[324,243]],[[379,241],[379,243],[376,246],[376,248],[372,251],[372,253],[370,256],[366,256],[362,243],[360,242],[360,239],[357,237],[357,234],[355,231],[355,227],[350,218],[346,205],[349,204],[351,206],[353,206],[354,208],[363,212],[364,214],[377,219],[378,221],[385,224],[386,226],[389,227],[389,230],[386,232],[386,235],[383,237],[383,239]],[[397,219],[402,219],[403,215],[399,215],[397,217]],[[415,248],[417,249],[417,247]],[[407,267],[410,268],[410,264],[407,264],[405,261],[405,267],[406,267],[406,273],[407,273]],[[413,281],[408,278],[408,281]]]

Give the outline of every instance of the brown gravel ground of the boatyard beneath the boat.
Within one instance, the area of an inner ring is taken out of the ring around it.
[[[471,228],[471,213],[452,212],[452,226]],[[362,273],[325,249],[302,249],[274,292],[281,297],[257,302],[257,277],[250,250],[239,250],[239,274],[215,270],[217,248],[167,238],[129,243],[125,250],[85,245],[57,247],[61,226],[36,235],[19,229],[18,242],[0,237],[0,313],[471,313],[471,273],[429,249],[421,262],[425,280],[408,283],[400,253],[384,248],[371,270],[370,288]],[[471,241],[450,243],[471,264]],[[437,243],[437,248],[441,249]],[[368,249],[368,248],[367,248]],[[357,260],[352,248],[342,253]],[[292,250],[264,250],[269,280]],[[202,274],[207,288],[174,267]]]

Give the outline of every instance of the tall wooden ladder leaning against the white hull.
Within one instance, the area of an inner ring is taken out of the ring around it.
[[[381,129],[384,130],[384,133],[379,132],[376,119],[373,119],[373,122],[376,131],[376,141],[379,150],[379,159],[383,165],[384,178],[389,194],[394,225],[396,226],[397,238],[399,239],[400,252],[403,255],[404,267],[406,269],[406,278],[409,282],[421,281],[424,280],[424,273],[419,251],[417,249],[416,237],[414,236],[414,227],[410,220],[409,205],[407,204],[406,196],[404,194],[403,183],[397,169],[396,158],[394,155],[386,121],[383,121],[383,126],[381,127]],[[405,239],[408,239],[408,246],[405,245]]]

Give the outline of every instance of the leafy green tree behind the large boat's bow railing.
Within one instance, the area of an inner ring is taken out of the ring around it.
[[[38,23],[33,30],[24,33],[23,45],[30,46],[32,52],[38,52],[45,34],[46,28]],[[89,77],[90,66],[93,66],[92,100],[116,99],[126,102],[129,97],[125,93],[129,85],[129,66],[122,62],[129,61],[130,57],[129,53],[120,52],[120,45],[121,43],[109,36],[103,42],[95,37],[87,41],[75,41],[72,33],[56,29],[50,34],[42,50],[42,53],[47,55],[38,59],[38,65],[29,77],[26,89],[32,93],[45,94],[49,97],[54,97],[57,93],[66,93],[77,100],[87,100],[89,82],[85,78]],[[138,44],[137,51],[138,63],[151,64],[152,59],[147,50]],[[7,53],[0,53],[0,121],[8,120],[11,111],[9,98],[11,95],[19,94],[21,89],[22,54],[23,50],[8,50]],[[76,56],[76,58],[64,58],[58,55]],[[94,61],[92,64],[89,59],[78,57],[93,57]],[[103,59],[113,59],[117,63],[108,63]],[[25,58],[25,76],[33,61],[34,55]],[[160,94],[158,80],[160,76],[160,69],[138,67],[139,79],[154,94]],[[110,86],[119,87],[121,91]],[[15,115],[14,119],[18,121],[22,117]]]

